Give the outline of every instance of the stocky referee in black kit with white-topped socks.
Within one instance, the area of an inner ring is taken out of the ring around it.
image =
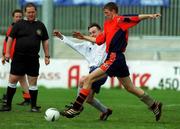
[[[17,82],[27,74],[29,92],[31,96],[31,111],[39,112],[40,106],[36,105],[39,75],[39,50],[42,46],[45,54],[45,64],[50,63],[48,33],[45,25],[36,19],[37,8],[33,3],[25,5],[25,18],[17,22],[10,33],[7,41],[5,58],[9,61],[10,48],[14,38],[16,46],[14,57],[11,62],[9,84],[7,87],[7,104],[2,105],[0,111],[11,111],[12,99],[16,92]]]

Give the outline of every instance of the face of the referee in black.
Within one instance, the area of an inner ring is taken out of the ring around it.
[[[34,21],[36,19],[36,10],[34,7],[27,7],[25,15],[28,21]]]

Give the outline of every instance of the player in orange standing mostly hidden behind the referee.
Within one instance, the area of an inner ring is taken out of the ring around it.
[[[23,12],[22,10],[20,9],[15,9],[13,12],[12,12],[12,17],[13,17],[13,23],[8,27],[8,30],[6,32],[6,37],[5,37],[5,40],[4,40],[4,44],[3,44],[3,53],[2,53],[2,64],[5,64],[5,53],[6,53],[6,44],[7,44],[7,40],[8,40],[8,37],[11,33],[11,30],[13,28],[13,25],[15,23],[17,23],[19,20],[22,19],[23,17]],[[13,40],[12,42],[12,46],[11,46],[11,50],[10,50],[10,58],[12,60],[13,58],[13,54],[14,54],[14,48],[15,48],[15,44],[16,44],[16,39]],[[29,89],[28,89],[28,83],[26,81],[26,76],[23,76],[22,79],[19,81],[20,85],[22,86],[23,88],[23,98],[24,98],[24,101],[21,102],[21,103],[18,103],[18,105],[29,105],[30,103],[30,95],[29,95]],[[6,96],[6,95],[4,95]],[[4,97],[4,100],[2,100],[4,102],[6,102],[6,97]]]

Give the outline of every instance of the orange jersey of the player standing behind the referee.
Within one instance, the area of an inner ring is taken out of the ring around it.
[[[7,44],[8,37],[9,37],[11,31],[12,31],[13,25],[14,25],[14,24],[11,24],[11,25],[8,27],[8,30],[7,30],[7,32],[6,32],[6,38],[4,39],[4,43],[3,43],[3,53],[6,53],[6,44]],[[13,58],[15,44],[16,44],[16,39],[14,39],[13,42],[12,42],[12,46],[11,46],[11,50],[10,50],[10,58],[11,58],[11,59]]]

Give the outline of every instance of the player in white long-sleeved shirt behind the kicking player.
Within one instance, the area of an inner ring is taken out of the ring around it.
[[[96,37],[99,33],[101,33],[101,27],[96,24],[90,24],[88,27],[89,35],[92,37]],[[105,52],[105,45],[98,46],[95,43],[84,41],[82,43],[74,43],[73,41],[69,40],[66,36],[62,35],[59,31],[54,31],[54,36],[59,37],[63,43],[70,46],[72,49],[77,51],[79,54],[84,56],[84,58],[87,60],[89,64],[89,73],[94,71],[96,68],[98,68],[103,61],[105,60],[107,53]],[[82,82],[85,77],[82,77],[80,79],[79,87],[83,85]],[[101,112],[100,114],[100,120],[107,120],[109,115],[112,114],[112,110],[104,106],[97,98],[94,97],[95,93],[99,93],[101,85],[103,85],[107,80],[107,76],[100,79],[99,81],[96,81],[93,83],[91,92],[89,96],[87,97],[86,102],[93,107],[95,107],[97,110]],[[79,88],[79,89],[80,89]],[[79,90],[78,90],[79,93]]]

